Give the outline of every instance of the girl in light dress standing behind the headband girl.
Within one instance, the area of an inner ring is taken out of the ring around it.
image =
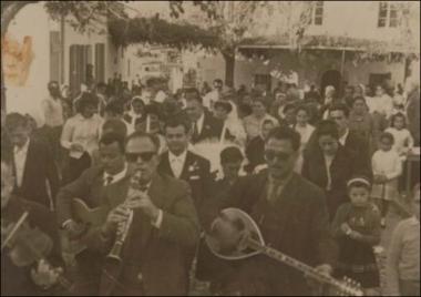
[[[381,211],[381,226],[386,226],[386,215],[389,203],[399,195],[399,176],[402,174],[402,162],[398,152],[392,150],[393,135],[384,132],[380,135],[378,150],[372,158],[371,166],[374,176],[371,197]]]

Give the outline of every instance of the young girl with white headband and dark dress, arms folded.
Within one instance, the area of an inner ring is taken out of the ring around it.
[[[332,223],[332,235],[339,245],[336,277],[347,276],[361,284],[366,295],[380,286],[373,246],[380,242],[380,213],[369,202],[371,184],[367,177],[353,177],[348,184],[350,203],[342,204]]]

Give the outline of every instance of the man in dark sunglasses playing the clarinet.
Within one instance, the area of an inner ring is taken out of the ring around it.
[[[198,242],[198,218],[189,186],[157,173],[160,141],[155,135],[135,132],[125,144],[129,172],[136,173],[136,190],[127,181],[109,199],[106,222],[90,235],[90,247],[109,254],[117,229],[133,221],[124,240],[122,263],[113,281],[102,276],[101,296],[187,295],[188,254]],[[130,196],[127,196],[130,194]],[[124,204],[124,205],[123,205]],[[119,226],[120,225],[120,226]]]

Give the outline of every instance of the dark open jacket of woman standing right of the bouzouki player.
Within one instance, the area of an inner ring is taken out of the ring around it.
[[[360,156],[361,158],[361,156]],[[327,187],[328,176],[324,155],[320,148],[305,156],[302,164],[302,176],[321,188]],[[330,165],[331,190],[327,192],[327,202],[330,219],[333,219],[338,207],[348,202],[347,182],[355,175],[370,177],[371,172],[364,162],[358,161],[347,148],[339,146],[338,153]]]

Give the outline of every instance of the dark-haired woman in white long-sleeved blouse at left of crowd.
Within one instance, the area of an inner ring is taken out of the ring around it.
[[[103,121],[97,112],[95,95],[84,93],[78,104],[78,113],[69,119],[61,134],[61,145],[69,151],[63,170],[63,184],[76,180],[91,166],[92,153],[97,150]]]

